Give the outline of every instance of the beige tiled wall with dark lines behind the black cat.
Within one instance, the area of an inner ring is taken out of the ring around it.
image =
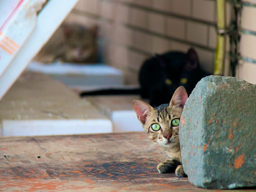
[[[230,2],[226,3],[227,25],[231,21]],[[255,7],[244,7],[243,28],[256,31],[255,22],[250,22],[255,17]],[[80,0],[65,22],[99,25],[105,62],[124,70],[128,84],[138,82],[138,71],[146,58],[169,50],[185,52],[191,46],[198,52],[203,69],[213,73],[217,37],[215,0]],[[255,43],[247,46],[247,42]],[[227,51],[228,45],[227,38]],[[243,55],[256,60],[255,46],[256,36],[242,35]],[[246,78],[247,68],[255,73],[255,66],[247,62],[240,65],[237,76]],[[228,67],[225,74],[229,74]]]

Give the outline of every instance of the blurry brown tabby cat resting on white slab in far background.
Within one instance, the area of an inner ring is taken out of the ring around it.
[[[67,63],[97,62],[97,26],[61,25],[34,60],[52,63],[56,59]]]

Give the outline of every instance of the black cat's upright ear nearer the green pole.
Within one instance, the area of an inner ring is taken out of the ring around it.
[[[185,69],[190,71],[199,67],[199,57],[194,48],[190,48],[186,54]]]

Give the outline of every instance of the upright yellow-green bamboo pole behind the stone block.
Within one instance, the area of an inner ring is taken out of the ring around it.
[[[225,58],[225,0],[217,0],[217,46],[215,52],[214,74],[223,75]]]

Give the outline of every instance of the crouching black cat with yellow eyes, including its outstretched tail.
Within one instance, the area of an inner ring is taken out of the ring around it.
[[[139,73],[140,89],[107,89],[82,92],[80,96],[140,94],[149,100],[150,105],[157,107],[169,103],[179,86],[185,87],[189,95],[196,83],[207,75],[200,69],[199,58],[193,48],[187,53],[169,51],[144,61]]]

